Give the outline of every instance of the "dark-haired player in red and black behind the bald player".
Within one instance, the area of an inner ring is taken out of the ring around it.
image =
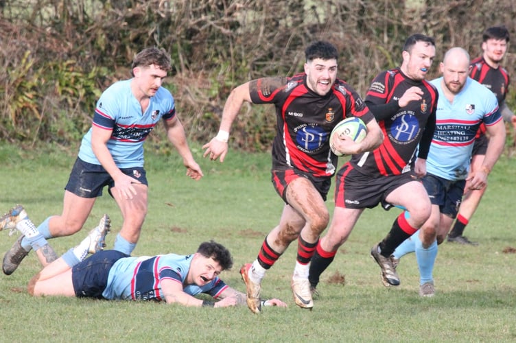
[[[509,32],[504,26],[489,27],[482,34],[482,56],[471,61],[469,76],[477,80],[495,93],[500,106],[500,113],[505,121],[512,124],[516,130],[516,116],[508,108],[505,97],[508,93],[510,78],[507,71],[500,65],[505,56],[509,43]],[[482,124],[478,130],[471,158],[470,173],[474,174],[482,167],[489,137],[486,137],[486,128]],[[460,204],[457,220],[448,234],[448,241],[459,244],[477,245],[462,235],[473,217],[486,187],[482,189],[466,189],[462,204]]]

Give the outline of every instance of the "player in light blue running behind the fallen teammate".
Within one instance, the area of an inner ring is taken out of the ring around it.
[[[143,142],[159,121],[164,123],[169,141],[183,158],[187,176],[194,180],[202,177],[176,114],[174,98],[161,86],[171,68],[170,57],[163,49],[143,49],[132,62],[132,78],[115,82],[102,93],[93,124],[82,139],[65,187],[62,213],[40,224],[40,235],[32,241],[78,232],[96,198],[108,186],[124,218],[115,250],[130,255],[139,239],[148,206]],[[18,268],[32,249],[32,241],[23,235],[16,240],[3,257],[5,274],[10,275]]]

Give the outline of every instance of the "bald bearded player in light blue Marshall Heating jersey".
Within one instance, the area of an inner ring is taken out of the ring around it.
[[[495,95],[468,77],[469,54],[465,49],[449,49],[440,64],[443,76],[432,80],[439,92],[436,130],[427,158],[423,185],[432,201],[432,214],[395,251],[400,259],[415,251],[419,266],[419,295],[434,296],[434,263],[441,244],[458,213],[465,189],[482,189],[505,144],[505,126]],[[489,143],[482,166],[468,172],[476,132],[484,123]]]

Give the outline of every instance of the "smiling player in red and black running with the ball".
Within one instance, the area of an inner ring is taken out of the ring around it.
[[[364,141],[337,138],[331,142],[343,154],[371,151],[382,143],[373,114],[353,88],[337,78],[337,49],[318,41],[307,47],[305,57],[304,73],[259,78],[233,89],[224,105],[217,137],[203,146],[204,156],[224,161],[228,132],[242,104],[274,104],[277,136],[272,143],[272,184],[285,206],[278,226],[263,240],[257,259],[241,270],[248,307],[254,313],[261,311],[261,279],[295,239],[298,252],[291,282],[294,301],[302,308],[314,306],[308,268],[319,235],[329,222],[325,200],[338,159],[330,150],[331,130],[346,117],[360,117],[366,123]]]

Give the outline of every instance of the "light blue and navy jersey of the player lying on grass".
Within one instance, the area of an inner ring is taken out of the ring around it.
[[[157,255],[153,257],[124,257],[109,271],[108,284],[102,296],[108,300],[165,300],[161,281],[170,279],[183,285],[191,296],[200,293],[218,297],[228,286],[215,277],[203,286],[187,285],[186,279],[193,255]]]

